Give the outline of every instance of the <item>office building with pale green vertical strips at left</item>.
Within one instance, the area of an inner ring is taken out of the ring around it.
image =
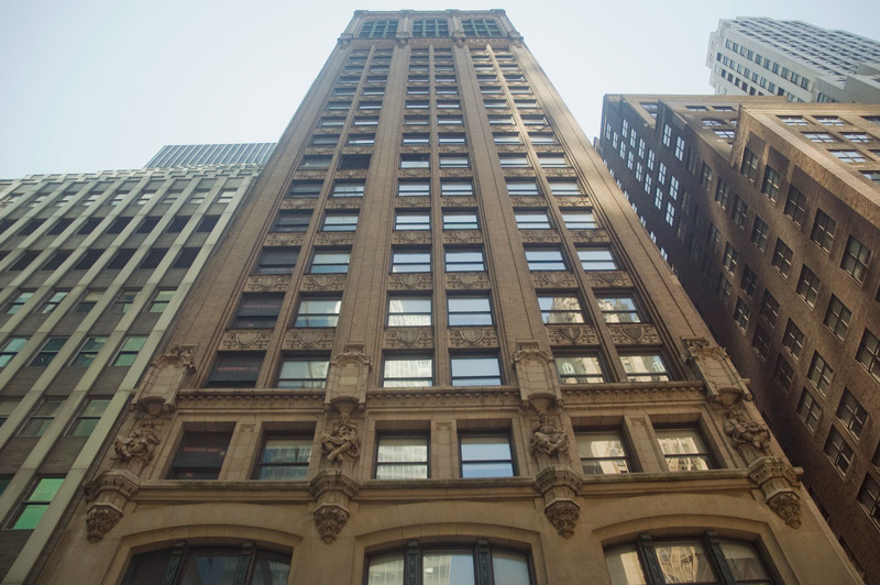
[[[256,165],[0,184],[0,574],[29,573]]]

